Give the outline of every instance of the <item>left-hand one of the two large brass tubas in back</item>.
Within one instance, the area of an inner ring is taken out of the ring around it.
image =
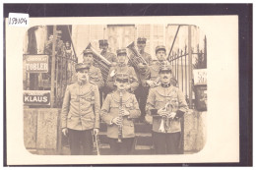
[[[91,43],[88,44],[87,49],[91,49],[93,51],[94,62],[96,63],[96,65],[101,71],[103,81],[106,82],[109,69],[111,67],[111,63],[107,59],[105,59],[102,55],[100,55],[100,53],[96,51],[96,49],[92,46]]]

